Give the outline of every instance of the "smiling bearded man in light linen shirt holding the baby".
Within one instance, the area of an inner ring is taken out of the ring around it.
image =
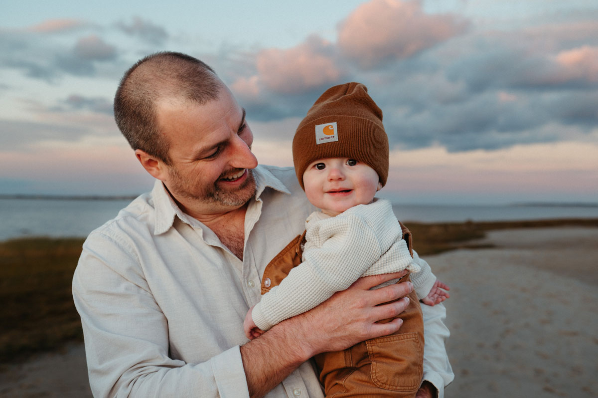
[[[400,314],[413,287],[368,290],[398,277],[389,274],[247,342],[265,266],[313,211],[294,171],[258,166],[245,110],[184,54],[136,63],[114,106],[156,184],[90,234],[75,271],[94,396],[321,397],[310,357],[398,330],[399,320],[376,321]],[[444,307],[433,308],[421,396],[453,377]]]

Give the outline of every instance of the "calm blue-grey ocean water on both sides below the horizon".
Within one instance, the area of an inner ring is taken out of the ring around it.
[[[26,236],[84,237],[130,200],[0,199],[0,241]],[[598,218],[598,206],[393,205],[399,220],[442,221]]]

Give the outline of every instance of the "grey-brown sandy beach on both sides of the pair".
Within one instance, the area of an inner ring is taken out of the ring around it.
[[[480,243],[480,241],[477,241]],[[451,286],[447,398],[598,396],[598,229],[487,233],[426,256]],[[0,372],[2,397],[90,397],[82,345]]]

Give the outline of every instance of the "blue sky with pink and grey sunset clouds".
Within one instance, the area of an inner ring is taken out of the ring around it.
[[[86,4],[89,3],[89,4]],[[260,163],[328,87],[382,108],[397,203],[598,202],[598,2],[5,0],[0,195],[137,195],[152,178],[112,114],[156,51],[212,66]]]

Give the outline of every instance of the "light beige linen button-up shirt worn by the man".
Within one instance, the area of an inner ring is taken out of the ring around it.
[[[73,279],[95,397],[248,397],[243,320],[267,263],[314,211],[292,168],[258,166],[243,261],[176,206],[160,181],[87,238]],[[424,378],[453,373],[444,306],[424,312]],[[280,353],[284,355],[284,353]],[[266,397],[322,397],[312,365]]]

